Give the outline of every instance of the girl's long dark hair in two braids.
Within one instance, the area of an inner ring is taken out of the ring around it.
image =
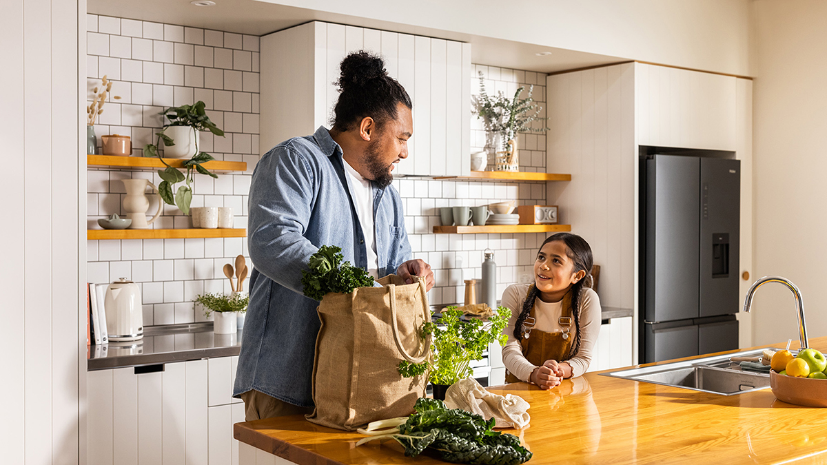
[[[548,242],[554,241],[561,241],[566,244],[566,256],[574,262],[573,272],[576,273],[581,270],[586,271],[586,276],[584,276],[583,279],[571,285],[571,317],[574,319],[574,328],[576,333],[574,343],[571,344],[571,351],[568,353],[568,358],[571,358],[574,357],[574,354],[576,354],[578,350],[580,350],[580,301],[583,286],[591,280],[590,273],[591,266],[593,265],[593,259],[591,257],[591,247],[589,247],[589,242],[586,242],[586,240],[582,237],[569,232],[557,232],[557,234],[548,237],[540,246],[540,250],[543,250],[543,246],[545,246]],[[540,292],[537,290],[536,285],[531,285],[528,288],[528,295],[526,295],[525,301],[523,302],[523,309],[517,317],[517,323],[514,324],[514,338],[517,338],[518,341],[523,340],[523,323],[525,323],[525,319],[528,318],[528,314],[534,306],[534,300],[537,298],[539,293]]]

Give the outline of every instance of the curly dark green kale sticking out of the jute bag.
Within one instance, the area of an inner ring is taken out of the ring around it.
[[[352,266],[350,261],[342,263],[342,249],[336,246],[319,247],[310,256],[308,270],[302,271],[304,295],[322,300],[328,292],[350,294],[357,287],[372,287],[374,280],[367,271]]]

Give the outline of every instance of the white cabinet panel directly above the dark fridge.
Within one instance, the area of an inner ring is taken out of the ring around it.
[[[635,65],[638,144],[734,151],[736,78]]]

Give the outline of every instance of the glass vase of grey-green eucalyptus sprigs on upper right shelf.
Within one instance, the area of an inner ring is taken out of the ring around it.
[[[528,95],[520,98],[524,87],[514,92],[514,97],[508,98],[502,92],[491,96],[485,90],[485,79],[480,71],[480,95],[476,98],[476,114],[485,122],[485,131],[500,135],[503,151],[497,152],[495,170],[517,171],[519,157],[517,156],[517,135],[519,132],[546,132],[547,127],[533,127],[535,121],[545,121],[540,117],[543,107],[534,103],[531,94],[534,86],[528,88]]]

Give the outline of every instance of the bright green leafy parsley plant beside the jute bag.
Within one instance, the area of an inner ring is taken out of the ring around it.
[[[444,400],[448,386],[473,375],[471,362],[480,360],[489,344],[496,342],[503,346],[508,342],[503,329],[511,318],[510,309],[499,307],[487,321],[477,318],[463,321],[462,315],[462,310],[449,306],[442,310],[436,323],[423,324],[422,336],[433,334],[430,360],[419,364],[399,362],[399,374],[406,378],[428,374],[435,399]]]

